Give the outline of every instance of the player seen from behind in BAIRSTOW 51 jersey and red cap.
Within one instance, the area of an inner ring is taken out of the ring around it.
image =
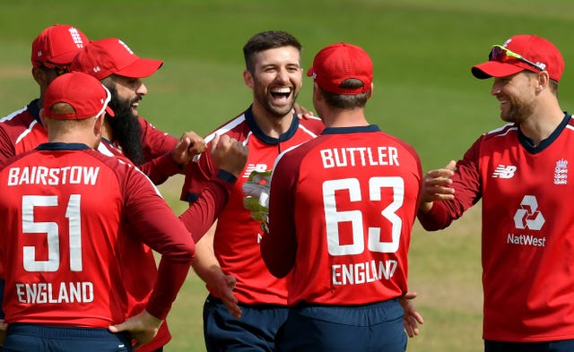
[[[95,150],[109,99],[90,75],[57,77],[40,110],[48,142],[0,167],[4,350],[130,351],[131,338],[155,336],[187,277],[187,229],[131,162]],[[129,318],[123,236],[161,253],[152,295]]]

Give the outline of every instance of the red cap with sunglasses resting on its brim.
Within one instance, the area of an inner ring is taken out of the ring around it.
[[[550,41],[535,35],[521,34],[510,37],[502,47],[506,47],[535,64],[543,65],[544,71],[552,80],[560,81],[564,71],[564,59],[560,51]],[[518,59],[511,59],[506,62],[490,60],[483,64],[474,65],[471,72],[474,77],[482,80],[491,77],[505,77],[523,70],[540,72],[531,64]]]

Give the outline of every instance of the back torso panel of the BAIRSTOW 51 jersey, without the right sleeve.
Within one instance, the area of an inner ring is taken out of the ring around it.
[[[47,145],[0,170],[6,322],[122,322],[116,242],[134,167],[83,144]]]

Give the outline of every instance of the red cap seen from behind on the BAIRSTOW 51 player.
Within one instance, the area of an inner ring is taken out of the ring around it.
[[[58,120],[80,120],[100,116],[108,107],[111,94],[100,81],[86,73],[65,73],[50,82],[44,95],[44,115]],[[55,114],[51,107],[68,103],[74,113]],[[111,113],[113,114],[113,112]],[[113,116],[113,115],[112,115]]]

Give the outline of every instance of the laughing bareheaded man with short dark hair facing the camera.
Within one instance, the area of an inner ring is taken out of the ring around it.
[[[253,101],[205,137],[208,142],[218,134],[229,135],[249,147],[248,165],[228,204],[196,246],[193,267],[210,292],[204,304],[209,352],[274,350],[275,334],[287,317],[285,280],[265,269],[259,252],[261,222],[243,207],[242,185],[251,171],[271,170],[279,153],[325,128],[320,119],[298,119],[293,111],[302,82],[300,49],[299,41],[283,31],[265,31],[249,39],[243,48],[247,66],[243,78],[253,91]],[[194,159],[181,199],[190,205],[196,202],[215,172],[208,153]]]

